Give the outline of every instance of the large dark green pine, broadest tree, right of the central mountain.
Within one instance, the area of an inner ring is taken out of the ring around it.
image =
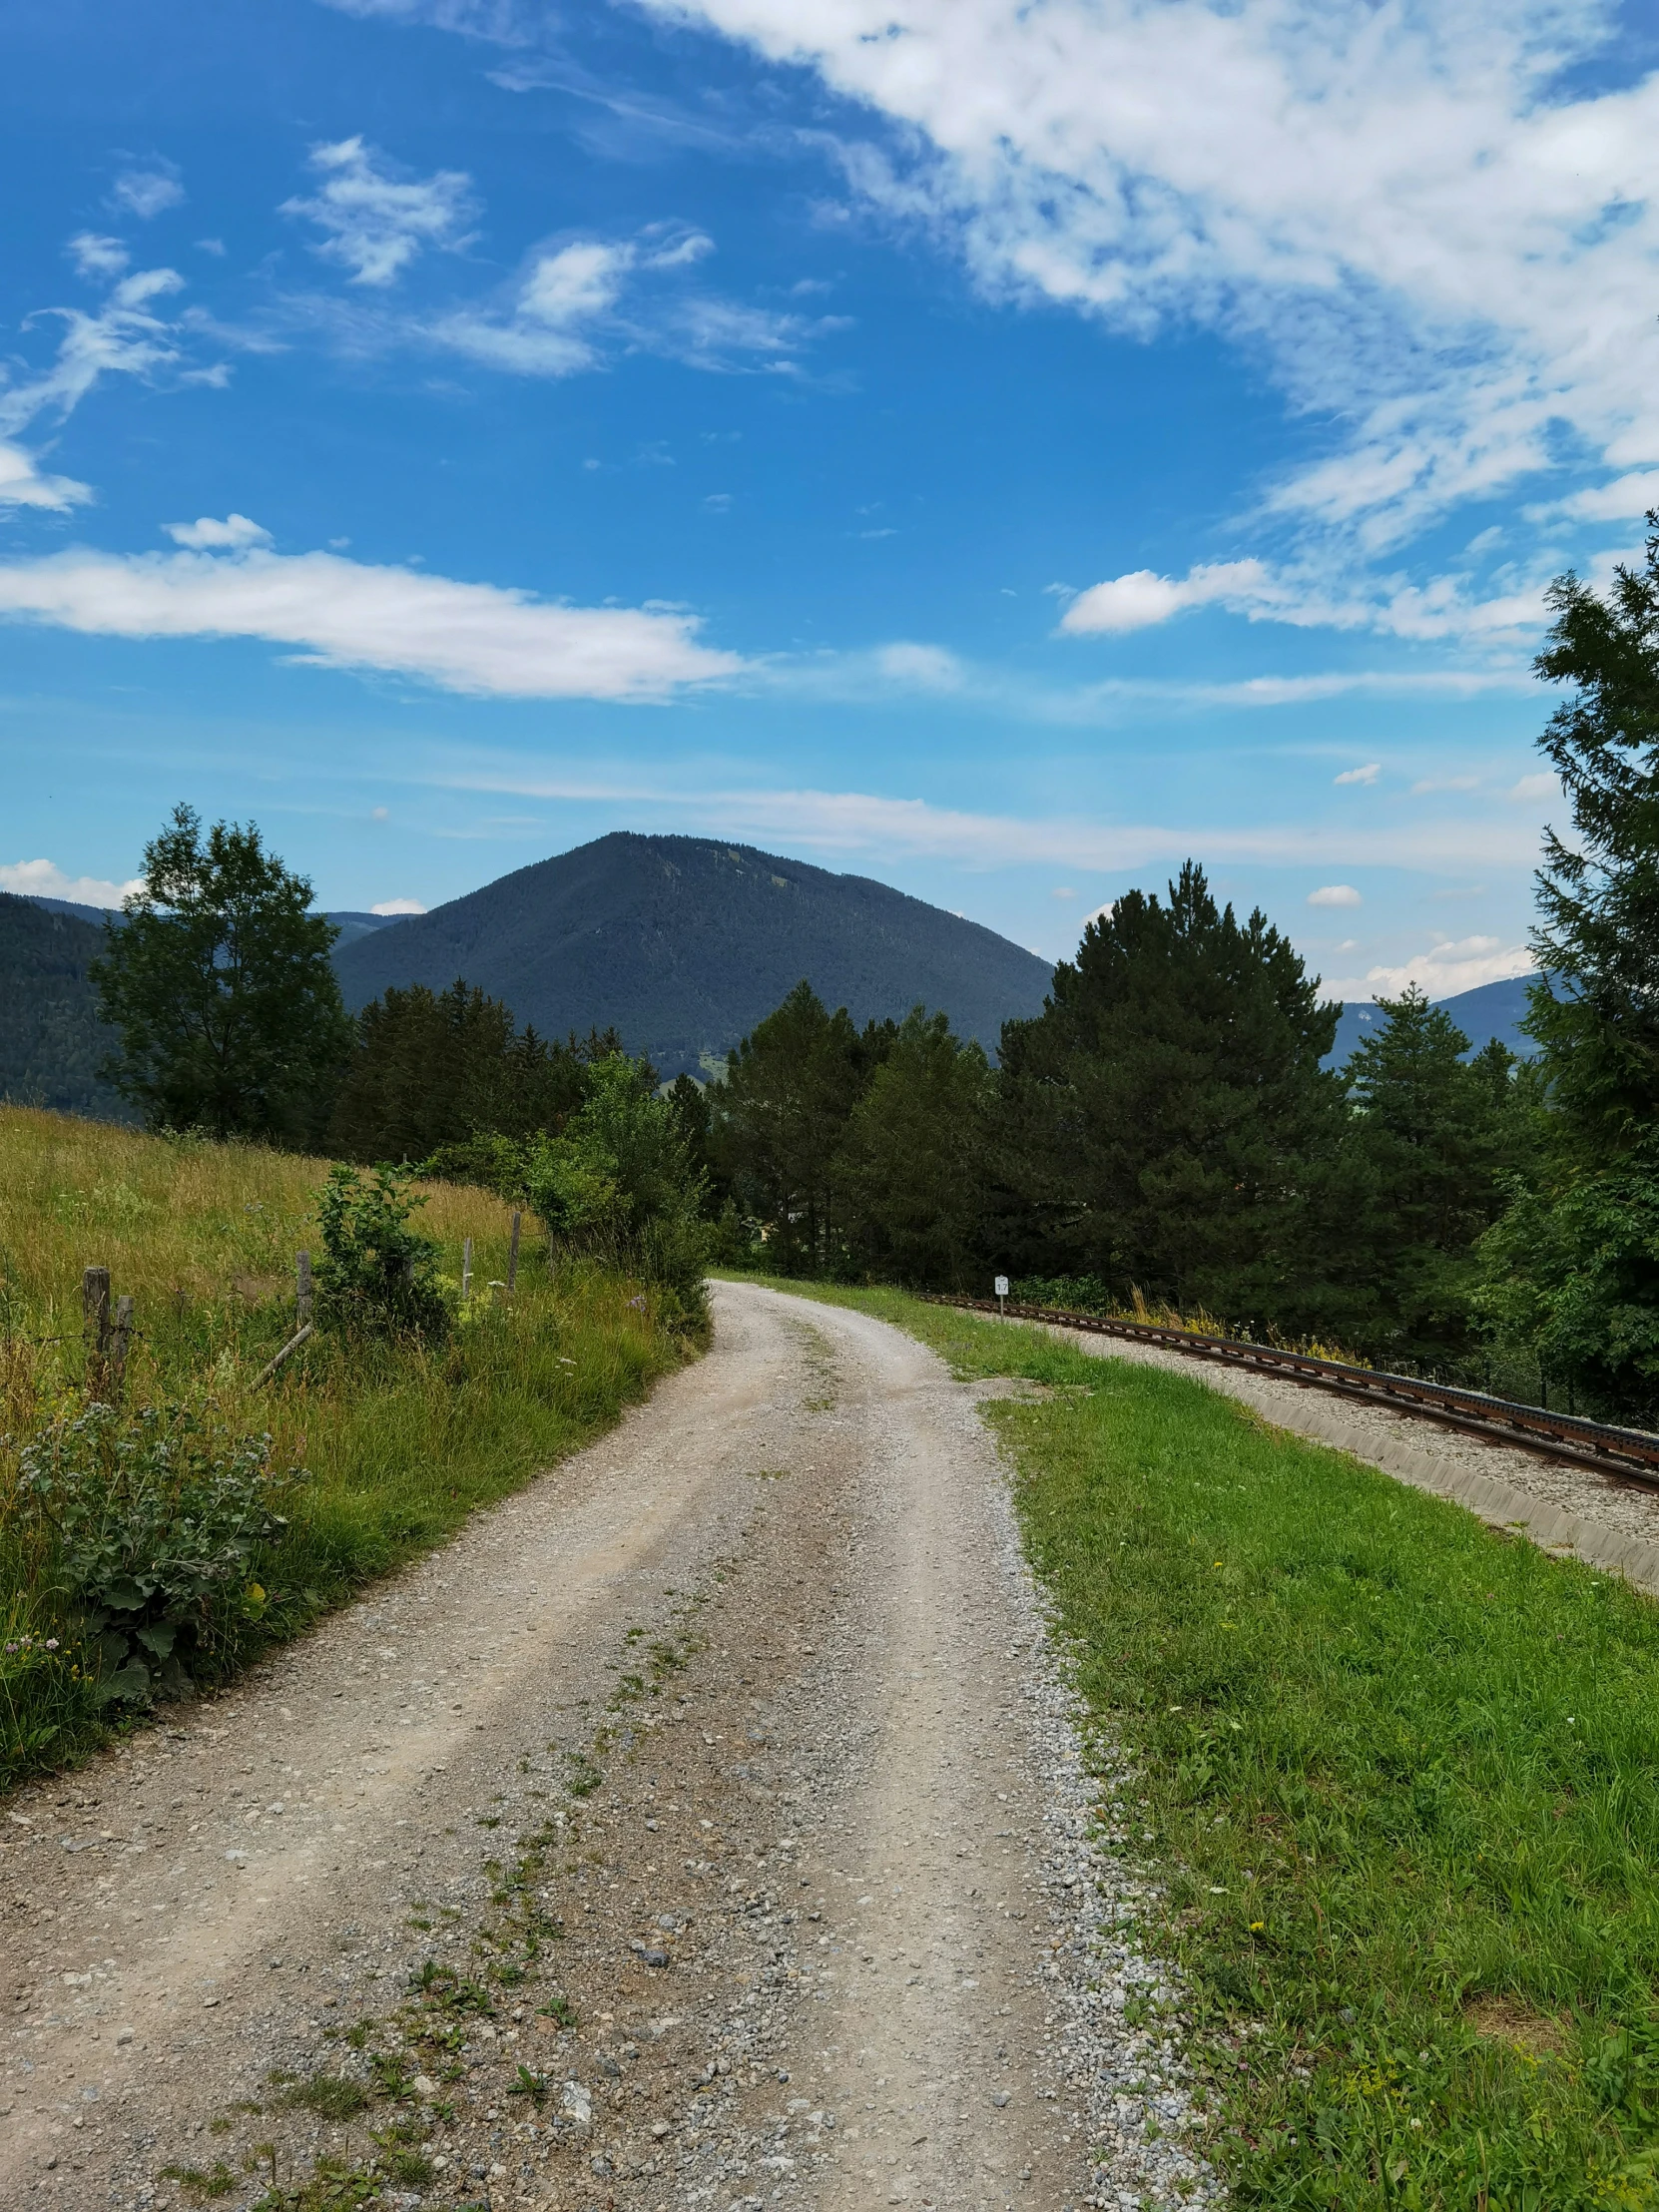
[[[1035,1234],[1018,1272],[1086,1272],[1177,1307],[1307,1327],[1327,1252],[1314,1194],[1340,1135],[1318,1004],[1261,911],[1219,909],[1188,860],[1128,891],[1002,1033],[1000,1177]]]

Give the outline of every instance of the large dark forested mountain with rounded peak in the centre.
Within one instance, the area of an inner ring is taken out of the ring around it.
[[[336,947],[349,1006],[465,975],[544,1035],[615,1024],[664,1075],[732,1051],[805,978],[856,1022],[942,1006],[993,1051],[1051,967],[867,876],[712,838],[617,832]]]

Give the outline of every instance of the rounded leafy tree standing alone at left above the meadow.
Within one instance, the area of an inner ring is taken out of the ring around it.
[[[119,1031],[106,1066],[153,1128],[314,1141],[349,1046],[312,887],[259,830],[179,805],[144,847],[144,887],[106,929],[100,1011]]]

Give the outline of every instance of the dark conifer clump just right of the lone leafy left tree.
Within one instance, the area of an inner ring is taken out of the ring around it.
[[[606,1040],[595,1040],[606,1044]],[[511,1009],[462,980],[447,991],[392,987],[356,1018],[330,1144],[347,1159],[429,1159],[491,1181],[471,1157],[484,1137],[557,1130],[582,1106],[586,1048],[522,1033]]]

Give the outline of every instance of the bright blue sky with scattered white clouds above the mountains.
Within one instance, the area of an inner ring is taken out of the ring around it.
[[[613,827],[1042,951],[1194,854],[1524,969],[1553,573],[1659,504],[1659,15],[13,0],[0,887]]]

